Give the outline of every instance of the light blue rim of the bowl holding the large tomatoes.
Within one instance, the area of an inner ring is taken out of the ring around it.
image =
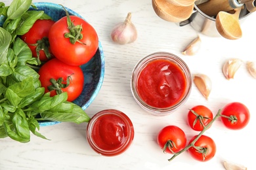
[[[49,3],[49,2],[36,2],[36,3],[33,3],[33,5],[35,5],[35,7],[52,6],[52,7],[58,8],[58,9],[60,9],[60,8],[62,9],[62,6],[60,6],[56,3]],[[68,12],[71,12],[72,14],[75,14],[76,16],[85,20],[85,18],[83,18],[83,16],[81,16],[74,10],[69,9],[68,7],[65,7],[65,9],[68,10]],[[89,105],[91,105],[91,103],[95,100],[96,95],[100,91],[100,88],[101,88],[103,80],[104,80],[105,61],[104,61],[104,52],[103,52],[103,48],[102,48],[102,44],[101,44],[100,40],[98,40],[98,51],[100,52],[100,65],[101,65],[100,77],[98,80],[98,84],[93,92],[93,95],[91,95],[90,99],[84,105],[81,106],[81,109],[83,109],[83,110],[87,109],[87,107],[89,107]],[[44,121],[44,122],[39,122],[39,126],[51,126],[51,125],[59,124],[59,123],[61,123],[61,122]]]

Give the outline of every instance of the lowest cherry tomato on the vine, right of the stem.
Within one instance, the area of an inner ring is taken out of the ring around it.
[[[192,137],[189,143],[192,143],[194,139],[198,135]],[[194,146],[200,147],[200,150],[194,148],[193,146],[188,148],[188,153],[198,161],[209,161],[213,156],[215,156],[216,153],[216,145],[213,139],[211,137],[207,137],[205,135],[202,135],[196,143],[194,143]]]

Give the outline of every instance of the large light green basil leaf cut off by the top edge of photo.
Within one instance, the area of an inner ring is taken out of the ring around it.
[[[22,16],[32,4],[32,0],[13,0],[9,9],[7,10],[7,16],[11,20],[15,20]]]

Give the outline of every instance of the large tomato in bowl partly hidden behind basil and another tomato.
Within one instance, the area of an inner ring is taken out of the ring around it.
[[[37,58],[37,52],[39,53],[40,61],[47,61],[53,57],[48,35],[54,23],[53,20],[37,20],[30,28],[30,31],[21,36],[21,39],[30,47],[34,58]]]

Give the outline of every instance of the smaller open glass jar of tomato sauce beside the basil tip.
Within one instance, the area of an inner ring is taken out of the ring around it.
[[[87,141],[102,156],[116,156],[125,152],[133,137],[133,123],[119,110],[102,110],[87,125]]]

